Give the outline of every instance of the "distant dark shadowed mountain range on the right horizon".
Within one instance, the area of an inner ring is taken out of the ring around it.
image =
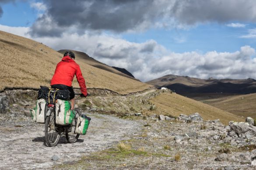
[[[166,87],[177,93],[256,93],[256,80],[247,79],[200,79],[188,76],[165,75],[146,82],[156,88]]]

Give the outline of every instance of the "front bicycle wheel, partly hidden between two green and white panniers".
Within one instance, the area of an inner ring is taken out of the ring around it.
[[[81,116],[81,111],[79,109],[75,109],[75,118],[72,122],[72,124],[70,125],[70,129],[66,131],[66,139],[68,143],[76,143],[77,139],[79,138],[79,134],[75,133],[76,130],[76,125],[77,125],[77,117]]]

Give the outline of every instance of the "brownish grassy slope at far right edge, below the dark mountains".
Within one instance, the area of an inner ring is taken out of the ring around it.
[[[204,99],[204,103],[231,112],[238,116],[256,118],[256,94],[231,95],[215,99]]]

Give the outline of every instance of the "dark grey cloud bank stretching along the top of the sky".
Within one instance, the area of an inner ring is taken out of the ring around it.
[[[255,0],[43,0],[35,7],[46,11],[31,27],[33,36],[46,36],[48,32],[49,36],[56,33],[60,37],[60,30],[122,33],[151,27],[186,28],[207,22],[256,22]]]

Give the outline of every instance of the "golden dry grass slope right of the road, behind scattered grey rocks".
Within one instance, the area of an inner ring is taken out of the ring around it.
[[[157,106],[158,112],[162,112],[165,115],[179,116],[181,113],[190,115],[198,112],[204,120],[220,119],[224,124],[228,124],[231,120],[237,122],[245,121],[234,114],[175,93],[162,94],[150,101]]]

